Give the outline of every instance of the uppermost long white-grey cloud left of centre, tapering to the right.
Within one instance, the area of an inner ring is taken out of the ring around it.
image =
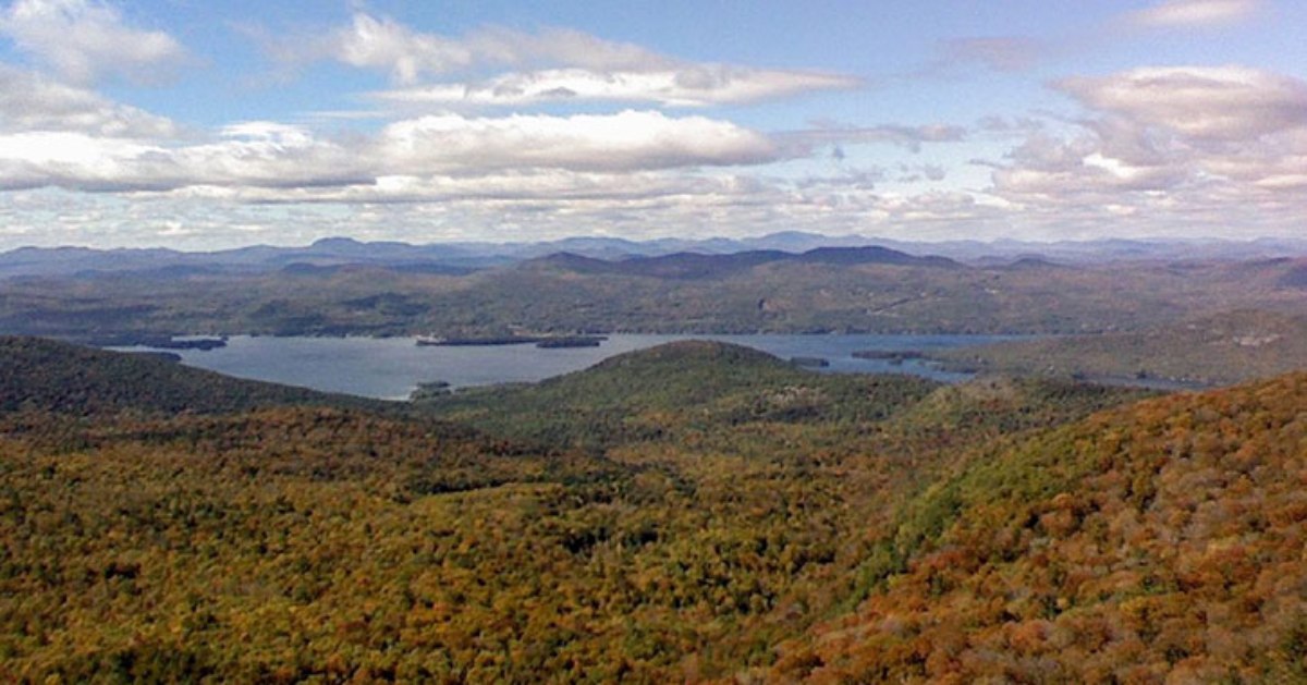
[[[257,33],[257,31],[252,31]],[[859,78],[795,69],[694,63],[571,29],[486,27],[461,37],[421,33],[356,13],[349,26],[305,38],[260,35],[288,64],[335,60],[389,75],[378,101],[414,106],[529,106],[557,101],[661,106],[746,103],[861,85]],[[486,69],[502,73],[485,77]]]

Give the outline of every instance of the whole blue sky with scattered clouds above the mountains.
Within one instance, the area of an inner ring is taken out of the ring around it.
[[[1300,0],[0,0],[0,250],[1307,237]]]

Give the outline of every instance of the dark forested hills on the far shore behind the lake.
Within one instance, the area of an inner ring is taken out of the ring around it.
[[[554,255],[471,275],[383,264],[0,281],[0,332],[102,336],[537,332],[1097,333],[1307,307],[1300,261],[963,265],[874,247]]]

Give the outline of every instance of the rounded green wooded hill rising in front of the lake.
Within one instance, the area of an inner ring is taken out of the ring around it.
[[[755,421],[873,421],[935,387],[910,376],[818,374],[752,348],[689,340],[537,384],[472,388],[422,407],[501,435],[603,447]]]

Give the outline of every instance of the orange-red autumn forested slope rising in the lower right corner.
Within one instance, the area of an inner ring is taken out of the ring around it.
[[[1098,414],[906,503],[817,682],[1307,678],[1307,375]]]

